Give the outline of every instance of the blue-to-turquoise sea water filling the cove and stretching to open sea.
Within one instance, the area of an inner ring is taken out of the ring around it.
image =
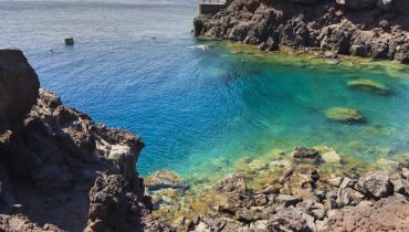
[[[312,64],[197,40],[195,13],[188,0],[0,1],[0,46],[22,49],[42,87],[64,104],[140,135],[144,176],[165,168],[188,177],[214,171],[214,158],[230,166],[296,146],[328,146],[369,162],[409,151],[408,67]],[[62,44],[65,35],[73,48]],[[349,89],[354,78],[392,94]],[[323,110],[335,106],[361,110],[367,124],[327,120]]]

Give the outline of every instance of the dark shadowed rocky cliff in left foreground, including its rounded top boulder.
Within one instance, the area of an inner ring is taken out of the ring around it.
[[[0,50],[0,230],[167,230],[135,169],[138,136],[39,89],[19,50]]]

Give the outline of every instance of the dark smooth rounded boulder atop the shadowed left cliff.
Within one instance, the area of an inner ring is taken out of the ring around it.
[[[20,50],[0,50],[0,135],[23,120],[35,104],[39,87],[39,78]]]

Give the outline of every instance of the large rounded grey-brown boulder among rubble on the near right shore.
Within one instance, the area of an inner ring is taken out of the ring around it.
[[[368,198],[386,198],[394,192],[390,177],[384,171],[375,171],[359,178],[356,188]]]

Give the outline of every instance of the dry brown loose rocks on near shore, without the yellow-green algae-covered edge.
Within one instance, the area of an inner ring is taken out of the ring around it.
[[[217,211],[189,231],[408,231],[409,162],[357,177],[319,173],[324,157],[297,148],[279,182],[254,192],[232,175],[216,187]]]

